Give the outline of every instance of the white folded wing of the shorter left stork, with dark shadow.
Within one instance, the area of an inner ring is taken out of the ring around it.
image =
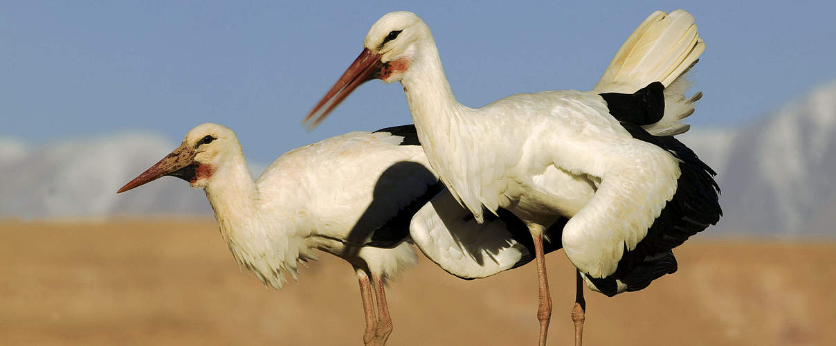
[[[264,171],[257,187],[266,209],[299,203],[294,207],[306,216],[300,232],[373,247],[407,240],[411,216],[441,189],[413,125],[351,132],[290,150]]]

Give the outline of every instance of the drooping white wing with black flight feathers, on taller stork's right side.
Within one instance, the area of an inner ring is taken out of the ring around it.
[[[563,231],[569,259],[610,296],[639,290],[675,271],[670,250],[722,215],[711,167],[673,136],[622,126],[664,154],[634,156],[629,165],[613,163],[589,204]]]

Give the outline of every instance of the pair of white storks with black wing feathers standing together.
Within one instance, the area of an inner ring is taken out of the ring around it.
[[[592,91],[472,109],[456,102],[426,23],[388,13],[305,121],[319,124],[360,84],[382,79],[403,86],[414,127],[303,146],[253,183],[234,133],[200,125],[120,192],[165,175],[203,188],[234,257],[273,287],[313,249],[343,257],[359,279],[366,344],[389,336],[383,285],[414,262],[411,240],[459,277],[536,259],[543,345],[552,310],[543,256],[563,247],[578,268],[580,344],[584,285],[608,296],[647,287],[675,272],[673,247],[721,216],[714,172],[673,137],[700,98],[686,98],[683,75],[704,48],[690,14],[657,11]]]

